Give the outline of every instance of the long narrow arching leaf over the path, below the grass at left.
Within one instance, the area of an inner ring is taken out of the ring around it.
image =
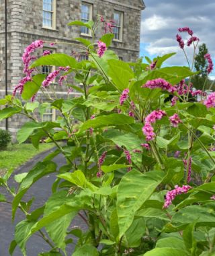
[[[15,195],[12,203],[12,218],[15,217],[15,212],[17,210],[17,207],[22,199],[22,197],[25,195],[25,193],[28,191],[28,189],[36,182],[38,179],[44,177],[46,174],[49,174],[51,172],[54,172],[56,170],[56,164],[54,162],[38,162],[36,166],[28,174],[26,177],[22,180],[22,183],[19,185],[19,189],[17,191],[17,194]]]

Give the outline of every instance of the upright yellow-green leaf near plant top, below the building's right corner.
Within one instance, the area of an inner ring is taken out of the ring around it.
[[[128,88],[130,79],[134,78],[134,73],[128,63],[112,59],[108,61],[108,64],[110,66],[108,75],[111,77],[116,88],[118,88],[118,90]]]

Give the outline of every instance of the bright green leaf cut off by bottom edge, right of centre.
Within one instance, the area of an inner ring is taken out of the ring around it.
[[[155,248],[142,256],[189,256],[189,254],[176,248]]]

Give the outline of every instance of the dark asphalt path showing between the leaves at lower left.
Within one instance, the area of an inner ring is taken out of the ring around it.
[[[14,174],[28,172],[28,170],[30,170],[32,166],[36,164],[36,162],[42,160],[42,158],[44,158],[46,154],[48,153],[46,152],[40,154],[39,156],[36,156],[36,158],[31,160],[24,166],[19,167]],[[58,166],[62,166],[65,164],[65,160],[62,155],[56,156],[56,158],[54,158],[54,162],[56,162]],[[32,187],[29,189],[28,193],[26,193],[24,199],[31,199],[35,196],[35,201],[32,204],[32,210],[42,206],[45,203],[46,199],[48,199],[48,197],[51,195],[51,187],[55,179],[55,174],[49,174],[34,183],[34,185],[32,185]],[[13,187],[15,186],[13,176],[9,180],[9,185]],[[3,189],[2,187],[0,187],[0,193],[5,194],[8,198],[7,193],[5,193],[5,189]],[[13,240],[15,224],[21,220],[24,220],[24,214],[20,210],[17,210],[15,222],[12,223],[11,205],[7,203],[0,203],[0,256],[9,256],[8,248],[10,242]],[[81,220],[77,219],[73,224],[75,226],[79,226],[79,224],[81,224]],[[83,224],[81,224],[81,226],[82,225]],[[38,256],[38,253],[49,250],[49,245],[47,245],[42,238],[36,235],[32,236],[27,243],[28,256]],[[69,250],[70,253],[71,250],[72,249]],[[13,256],[22,256],[22,253],[18,247],[15,249]]]

